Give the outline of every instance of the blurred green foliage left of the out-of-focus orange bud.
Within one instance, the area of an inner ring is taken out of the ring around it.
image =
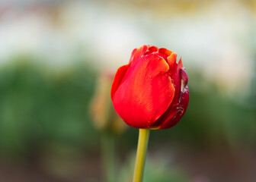
[[[97,138],[88,115],[96,71],[76,64],[49,71],[27,57],[0,71],[0,150],[26,155],[49,143],[91,147]]]

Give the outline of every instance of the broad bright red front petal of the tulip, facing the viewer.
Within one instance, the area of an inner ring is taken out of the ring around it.
[[[152,127],[174,99],[169,65],[155,54],[133,59],[112,95],[114,108],[132,127]]]

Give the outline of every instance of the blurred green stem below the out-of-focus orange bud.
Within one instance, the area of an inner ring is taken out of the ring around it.
[[[114,136],[110,133],[102,135],[101,155],[104,167],[104,181],[115,181],[115,154],[114,154]]]

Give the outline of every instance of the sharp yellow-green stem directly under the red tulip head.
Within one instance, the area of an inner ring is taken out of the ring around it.
[[[142,182],[146,151],[149,143],[150,129],[139,129],[139,141],[137,146],[136,162],[133,174],[133,182]]]

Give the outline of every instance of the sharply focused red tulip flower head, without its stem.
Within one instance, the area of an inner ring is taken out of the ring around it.
[[[117,70],[111,98],[117,114],[131,127],[173,127],[187,110],[189,92],[182,61],[168,49],[142,45],[129,64]]]

